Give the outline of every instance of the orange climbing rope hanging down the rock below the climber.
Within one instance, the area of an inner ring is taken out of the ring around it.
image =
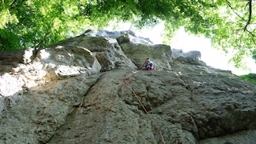
[[[149,118],[151,119],[151,121],[154,123],[154,126],[158,129],[159,134],[161,135],[161,138],[162,138],[162,142],[163,142],[164,144],[166,144],[166,142],[165,142],[165,140],[164,140],[164,138],[163,138],[163,136],[162,136],[162,131],[161,131],[161,129],[158,127],[158,125],[156,124],[156,122],[154,122],[154,119],[150,116],[150,114],[148,113],[148,111],[146,110],[146,108],[142,105],[142,102],[139,100],[137,94],[134,92],[133,87],[130,86],[130,83],[126,81],[127,78],[129,78],[131,75],[137,74],[137,73],[140,72],[140,71],[141,71],[141,70],[138,70],[138,71],[136,71],[136,72],[134,72],[134,73],[128,75],[126,78],[123,78],[123,80],[124,80],[124,81],[126,82],[126,84],[130,87],[130,90],[133,92],[135,98],[137,98],[137,100],[138,100],[138,102],[140,103],[140,105],[142,106],[143,110],[146,112],[146,114],[149,116]]]

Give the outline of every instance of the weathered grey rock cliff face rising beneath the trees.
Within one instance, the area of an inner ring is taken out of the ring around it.
[[[89,31],[0,55],[0,143],[255,143],[256,85],[206,66],[200,52],[131,31]]]

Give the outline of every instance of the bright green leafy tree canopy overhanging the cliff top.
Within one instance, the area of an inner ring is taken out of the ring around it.
[[[165,22],[170,40],[181,26],[210,38],[214,47],[234,51],[235,66],[256,60],[253,0],[3,0],[0,2],[0,50],[42,47],[111,21],[134,26]],[[166,41],[167,42],[167,41]]]

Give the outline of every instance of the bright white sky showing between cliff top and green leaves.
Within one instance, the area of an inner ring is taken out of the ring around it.
[[[115,30],[129,30],[131,24],[125,23],[115,28]],[[106,30],[113,30],[113,25],[107,27]],[[162,44],[162,32],[163,32],[163,23],[154,26],[154,28],[143,29],[143,30],[132,30],[139,36],[144,38],[150,38],[154,44]],[[192,34],[186,34],[185,30],[178,30],[177,34],[171,41],[172,49],[182,49],[184,52],[190,50],[198,50],[201,52],[201,59],[203,62],[206,62],[207,66],[212,66],[214,68],[222,69],[222,70],[231,70],[232,73],[237,75],[256,73],[256,64],[252,58],[248,58],[246,62],[248,63],[248,67],[251,70],[238,70],[234,68],[234,66],[228,63],[230,56],[226,56],[226,54],[222,50],[216,50],[211,47],[210,39],[207,38],[199,38]]]

